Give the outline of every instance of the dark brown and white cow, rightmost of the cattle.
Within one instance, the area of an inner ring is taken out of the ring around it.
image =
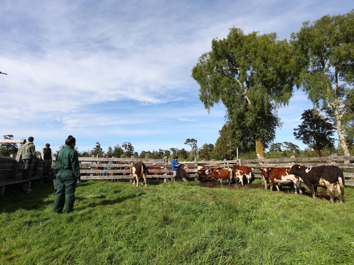
[[[331,195],[330,202],[334,202],[336,189],[339,195],[339,202],[343,203],[344,176],[343,171],[335,165],[306,167],[295,164],[291,167],[291,174],[300,176],[310,189],[312,198],[316,199],[317,187],[328,189]]]

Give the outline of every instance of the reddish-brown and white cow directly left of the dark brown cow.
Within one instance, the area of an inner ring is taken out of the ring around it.
[[[267,180],[269,181],[270,189],[275,184],[276,189],[279,191],[278,184],[290,184],[293,183],[295,187],[295,193],[299,191],[302,194],[300,178],[297,175],[289,173],[290,167],[261,167],[261,176],[264,180],[264,188],[268,188]]]

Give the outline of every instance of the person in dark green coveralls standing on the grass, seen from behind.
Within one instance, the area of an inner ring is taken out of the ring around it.
[[[55,176],[58,181],[54,201],[54,211],[65,213],[73,211],[76,184],[80,184],[80,167],[78,152],[74,150],[76,140],[72,135],[65,140],[65,147],[56,155]]]

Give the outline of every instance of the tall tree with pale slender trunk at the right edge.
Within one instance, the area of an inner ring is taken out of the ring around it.
[[[339,148],[349,156],[343,123],[344,102],[354,83],[354,13],[306,21],[291,36],[300,73],[299,85],[316,107],[334,118]]]

